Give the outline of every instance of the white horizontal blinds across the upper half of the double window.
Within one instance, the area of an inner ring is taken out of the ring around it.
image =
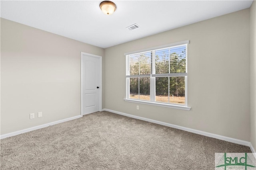
[[[187,75],[187,44],[126,55],[126,77]]]

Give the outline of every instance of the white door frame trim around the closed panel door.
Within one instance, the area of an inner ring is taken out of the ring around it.
[[[99,59],[99,111],[102,111],[102,56],[99,55],[94,55],[94,54],[89,54],[89,53],[84,53],[81,52],[81,115],[86,115],[83,114],[83,56],[89,56],[89,57],[94,57],[94,58],[98,58]],[[90,113],[88,113],[90,114]]]

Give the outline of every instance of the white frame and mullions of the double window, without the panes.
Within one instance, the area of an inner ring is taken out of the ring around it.
[[[188,45],[189,40],[186,41],[180,41],[177,43],[171,43],[167,45],[162,45],[158,47],[152,47],[148,49],[142,49],[138,51],[133,51],[133,52],[128,52],[124,53],[126,56],[126,98],[124,101],[126,102],[133,102],[133,103],[138,103],[138,104],[149,104],[153,106],[161,106],[161,107],[170,107],[170,108],[176,108],[176,109],[183,109],[183,110],[190,110],[191,107],[188,107],[188,81],[187,81],[187,72],[186,73],[168,73],[168,74],[155,74],[155,50],[159,49],[164,49],[168,47],[174,47],[178,45]],[[188,46],[187,48],[188,49]],[[148,52],[150,51],[152,53],[152,71],[150,74],[150,100],[137,100],[137,99],[131,99],[130,98],[130,78],[139,78],[139,77],[148,77],[147,75],[135,75],[135,76],[130,76],[127,75],[127,70],[129,70],[129,55],[131,54],[136,54],[136,53],[142,53],[142,52]],[[187,54],[188,55],[188,54]],[[186,57],[186,68],[187,68],[187,57]],[[176,76],[184,76],[185,80],[185,104],[174,104],[174,103],[164,103],[164,102],[157,102],[156,100],[156,77],[176,77]]]

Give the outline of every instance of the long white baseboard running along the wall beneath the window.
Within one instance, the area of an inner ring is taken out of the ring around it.
[[[199,134],[199,135],[204,135],[204,136],[207,136],[207,137],[212,137],[212,138],[220,139],[220,140],[223,140],[223,141],[228,141],[228,142],[236,143],[236,144],[239,144],[239,145],[245,145],[247,147],[250,147],[250,145],[251,145],[250,142],[242,141],[240,139],[234,139],[234,138],[230,138],[230,137],[216,135],[214,133],[208,133],[208,132],[199,131],[199,130],[196,130],[196,129],[190,129],[188,127],[182,127],[182,126],[178,126],[178,125],[173,125],[173,124],[170,124],[170,123],[165,123],[165,122],[162,122],[162,121],[148,119],[148,118],[145,118],[145,117],[130,115],[130,114],[127,114],[127,113],[122,113],[122,112],[114,111],[114,110],[110,110],[110,109],[102,109],[102,110],[103,111],[110,111],[112,113],[116,113],[116,114],[119,114],[119,115],[124,115],[124,116],[127,116],[127,117],[132,117],[134,119],[140,119],[140,120],[156,123],[156,124],[159,124],[159,125],[173,127],[175,129],[180,129],[180,130],[183,130],[183,131],[188,131],[188,132],[196,133],[196,134]],[[253,147],[250,147],[250,148],[253,148]],[[253,152],[253,150],[252,150],[252,152]],[[254,152],[255,152],[255,150],[254,150]]]

